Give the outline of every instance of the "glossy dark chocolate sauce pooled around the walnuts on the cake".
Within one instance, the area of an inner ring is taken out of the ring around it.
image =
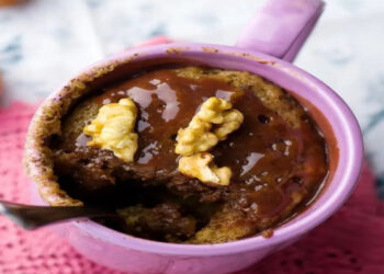
[[[214,161],[231,169],[229,190],[236,190],[236,195],[246,193],[262,216],[282,213],[292,192],[312,198],[327,173],[325,141],[313,122],[308,118],[294,128],[251,91],[222,80],[189,79],[162,69],[108,88],[98,102],[109,104],[126,96],[139,111],[139,147],[133,164],[150,167],[158,173],[178,172],[174,136],[179,128],[188,126],[200,105],[211,96],[230,101],[245,121],[212,150]],[[81,144],[84,140],[78,138]],[[234,198],[239,198],[236,195]]]

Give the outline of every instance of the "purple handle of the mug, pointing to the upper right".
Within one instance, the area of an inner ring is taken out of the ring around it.
[[[267,0],[237,47],[293,61],[324,10],[321,0]]]

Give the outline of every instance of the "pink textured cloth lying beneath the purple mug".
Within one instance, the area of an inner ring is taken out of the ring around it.
[[[157,38],[146,43],[169,43]],[[34,106],[15,102],[0,109],[0,198],[29,203],[30,180],[22,167],[23,144]],[[384,206],[365,164],[348,203],[293,246],[239,274],[384,273]],[[121,273],[89,261],[46,229],[23,231],[0,216],[0,273]]]

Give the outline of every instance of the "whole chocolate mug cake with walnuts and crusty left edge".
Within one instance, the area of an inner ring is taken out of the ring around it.
[[[328,174],[327,144],[305,107],[246,71],[160,67],[54,100],[66,111],[45,107],[26,145],[42,197],[112,207],[121,219],[98,221],[135,237],[270,237]]]

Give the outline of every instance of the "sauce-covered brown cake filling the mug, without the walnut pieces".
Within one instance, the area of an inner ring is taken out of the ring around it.
[[[241,239],[306,208],[327,176],[326,144],[312,118],[291,95],[258,76],[158,69],[98,94],[64,121],[63,135],[54,145],[55,171],[71,196],[87,203],[97,192],[97,202],[126,207],[122,214],[129,216],[128,228],[113,225],[118,230],[172,242]],[[217,167],[231,169],[228,186],[206,185],[181,174],[174,153],[178,130],[212,96],[231,102],[244,115],[241,126],[211,150]],[[129,163],[112,151],[87,146],[90,137],[82,133],[102,105],[123,98],[131,98],[138,110],[138,149]]]

